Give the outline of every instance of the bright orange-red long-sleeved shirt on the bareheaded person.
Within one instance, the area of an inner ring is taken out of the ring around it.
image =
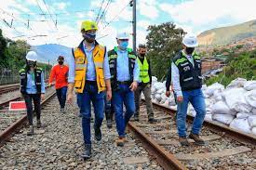
[[[69,67],[66,65],[55,65],[50,72],[49,83],[52,83],[55,80],[55,87],[59,89],[63,86],[68,85],[68,72]]]

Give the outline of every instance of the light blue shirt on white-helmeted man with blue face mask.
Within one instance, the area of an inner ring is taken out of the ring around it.
[[[117,51],[117,81],[125,82],[128,81],[129,78],[129,70],[128,70],[128,50],[120,50]],[[135,60],[135,65],[133,69],[133,81],[140,82],[140,68],[138,61]]]

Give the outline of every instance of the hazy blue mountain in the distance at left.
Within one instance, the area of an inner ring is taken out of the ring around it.
[[[32,50],[39,56],[38,61],[44,63],[48,63],[49,61],[50,64],[57,63],[56,59],[58,59],[59,56],[64,56],[65,60],[72,56],[72,49],[70,47],[56,44],[32,46]]]

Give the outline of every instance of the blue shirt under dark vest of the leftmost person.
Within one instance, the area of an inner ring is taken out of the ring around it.
[[[28,94],[36,94],[36,85],[34,80],[34,74],[27,72],[27,86],[26,92]],[[46,85],[44,79],[44,72],[41,73],[41,93],[46,93]]]

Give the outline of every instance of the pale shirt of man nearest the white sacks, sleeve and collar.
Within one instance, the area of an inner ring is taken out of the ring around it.
[[[182,54],[184,54],[186,59],[188,59],[194,67],[193,57],[185,54],[184,51],[182,51]],[[174,62],[171,62],[171,82],[173,85],[174,92],[177,94],[178,97],[182,97],[182,87],[180,84],[180,72],[178,67],[174,64]]]

